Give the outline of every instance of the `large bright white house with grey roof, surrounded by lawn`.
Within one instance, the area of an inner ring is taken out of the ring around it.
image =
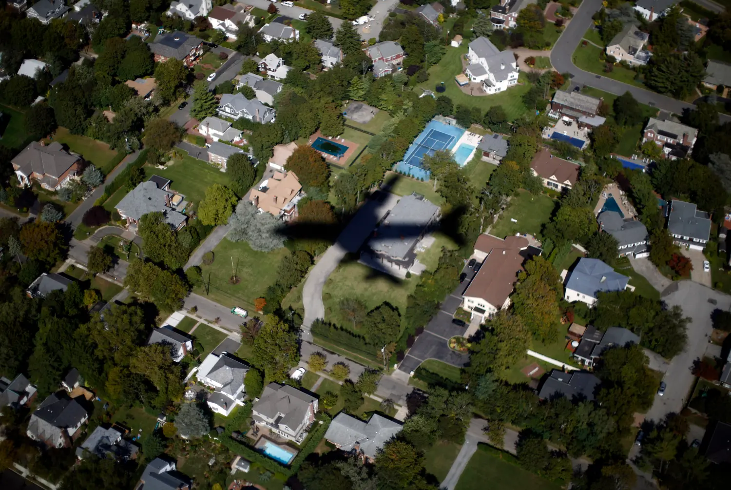
[[[480,36],[469,43],[469,65],[464,70],[471,82],[482,82],[488,94],[507,90],[518,83],[518,64],[512,51],[501,51],[490,39]]]

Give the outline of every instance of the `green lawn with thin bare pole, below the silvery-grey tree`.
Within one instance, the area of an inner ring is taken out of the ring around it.
[[[256,252],[245,241],[232,242],[224,238],[213,250],[211,265],[201,264],[204,287],[196,287],[195,293],[226,306],[254,308],[254,300],[260,298],[267,287],[277,279],[279,263],[288,254],[284,247],[273,252]],[[231,261],[241,281],[230,284]]]

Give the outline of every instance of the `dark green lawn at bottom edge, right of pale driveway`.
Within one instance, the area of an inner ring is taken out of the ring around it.
[[[477,452],[469,460],[456,490],[482,490],[486,482],[490,482],[491,490],[558,490],[561,487],[548,480],[544,480],[533,473],[523,470],[518,464],[505,461],[512,458],[506,453],[498,456],[489,453],[489,448],[478,445]]]

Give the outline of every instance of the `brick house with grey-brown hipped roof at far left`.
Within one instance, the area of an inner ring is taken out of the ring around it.
[[[76,176],[82,165],[81,157],[69,153],[58,141],[31,142],[14,159],[10,160],[20,185],[31,185],[31,178],[44,189],[55,191]]]

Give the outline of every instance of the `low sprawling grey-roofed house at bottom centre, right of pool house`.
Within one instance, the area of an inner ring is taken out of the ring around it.
[[[325,440],[346,453],[364,456],[368,461],[386,442],[401,431],[403,424],[374,413],[368,422],[344,412],[338,413],[325,432]]]

